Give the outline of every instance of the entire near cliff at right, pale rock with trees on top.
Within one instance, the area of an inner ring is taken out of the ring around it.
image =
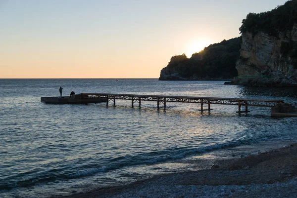
[[[297,0],[259,14],[249,13],[233,84],[297,86]]]

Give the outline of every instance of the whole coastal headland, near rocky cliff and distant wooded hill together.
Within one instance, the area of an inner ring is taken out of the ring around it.
[[[239,28],[240,38],[209,45],[190,59],[172,57],[159,79],[233,79],[226,84],[297,86],[296,8],[297,0],[289,0],[271,11],[249,13]]]

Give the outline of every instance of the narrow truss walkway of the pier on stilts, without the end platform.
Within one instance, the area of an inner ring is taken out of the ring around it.
[[[167,96],[167,95],[139,95],[139,94],[112,94],[112,93],[81,93],[82,98],[100,98],[106,100],[106,106],[111,101],[115,106],[116,100],[131,100],[131,105],[134,107],[134,103],[138,103],[141,106],[142,101],[155,101],[157,102],[157,108],[160,104],[163,104],[163,108],[166,109],[166,103],[168,102],[180,102],[180,103],[198,103],[200,104],[199,111],[210,111],[210,105],[237,105],[238,112],[247,113],[247,107],[275,107],[278,104],[284,103],[284,100],[259,100],[259,99],[243,99],[243,98],[216,98],[216,97],[194,97],[194,96]],[[207,105],[207,109],[203,109],[203,105]],[[245,110],[242,111],[242,107]]]

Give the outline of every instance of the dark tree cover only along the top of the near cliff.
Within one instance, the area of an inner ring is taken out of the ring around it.
[[[297,0],[289,0],[271,11],[247,14],[239,31],[250,32],[253,35],[262,31],[270,36],[279,37],[279,32],[291,31],[296,23]]]

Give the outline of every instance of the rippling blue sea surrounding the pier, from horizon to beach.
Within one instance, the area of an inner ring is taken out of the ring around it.
[[[41,97],[123,93],[281,99],[297,103],[294,87],[245,87],[224,81],[158,79],[0,79],[0,197],[48,198],[125,185],[154,175],[195,171],[203,160],[240,158],[235,148],[297,140],[297,118],[270,108],[116,100],[45,104]],[[205,107],[206,108],[206,107]],[[255,147],[256,148],[256,147]],[[259,152],[256,149],[253,152]]]

